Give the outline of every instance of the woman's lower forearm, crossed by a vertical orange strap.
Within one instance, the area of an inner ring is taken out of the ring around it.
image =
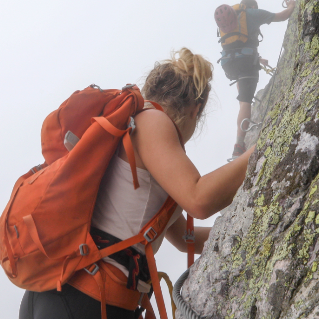
[[[165,234],[165,238],[183,253],[187,253],[187,244],[183,239],[185,230],[186,219],[181,215]],[[201,254],[204,248],[204,242],[208,239],[210,230],[211,227],[194,227],[195,254]]]

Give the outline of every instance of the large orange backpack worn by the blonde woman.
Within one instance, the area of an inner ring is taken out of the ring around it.
[[[163,232],[176,202],[168,197],[138,235],[100,251],[89,233],[100,181],[121,138],[138,188],[128,124],[144,106],[135,85],[122,90],[95,87],[74,92],[45,119],[45,163],[18,179],[0,217],[1,266],[15,285],[31,291],[61,291],[68,282],[100,300],[106,319],[106,303],[128,310],[139,304],[151,311],[147,295],[126,288],[124,274],[101,261],[142,243],[160,315],[166,319],[151,242]]]

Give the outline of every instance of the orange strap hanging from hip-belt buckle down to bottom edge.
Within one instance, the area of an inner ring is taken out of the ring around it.
[[[160,317],[161,319],[168,319],[151,243],[145,245],[145,253]]]

